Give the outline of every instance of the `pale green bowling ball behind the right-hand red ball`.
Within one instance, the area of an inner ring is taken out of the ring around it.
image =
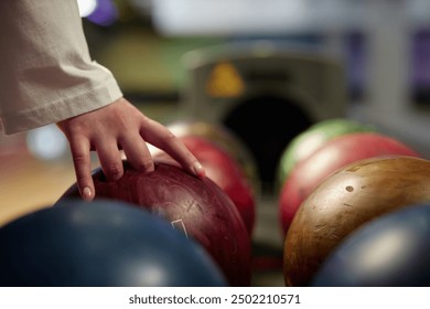
[[[327,140],[341,135],[361,131],[376,131],[376,127],[348,118],[331,118],[319,121],[295,136],[280,157],[276,180],[277,189],[282,188],[299,161],[308,158]]]

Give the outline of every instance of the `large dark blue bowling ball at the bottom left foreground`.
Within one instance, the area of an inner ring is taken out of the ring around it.
[[[227,286],[164,220],[118,201],[63,200],[0,228],[0,286]]]

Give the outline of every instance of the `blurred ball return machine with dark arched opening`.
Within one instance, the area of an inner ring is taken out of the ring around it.
[[[288,142],[310,125],[344,117],[345,70],[315,46],[228,43],[186,53],[181,111],[221,122],[249,147],[264,190],[271,190]]]

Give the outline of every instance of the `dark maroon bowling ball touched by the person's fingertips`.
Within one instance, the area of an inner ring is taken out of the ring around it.
[[[157,162],[142,173],[125,161],[125,174],[107,182],[101,169],[93,172],[97,199],[129,202],[149,210],[200,243],[224,271],[229,285],[249,286],[251,245],[235,204],[209,178],[198,179],[182,168]],[[79,196],[76,183],[60,199]]]

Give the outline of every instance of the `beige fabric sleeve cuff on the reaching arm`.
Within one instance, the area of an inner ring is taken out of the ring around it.
[[[90,58],[76,0],[0,1],[0,119],[7,135],[54,124],[122,96]]]

